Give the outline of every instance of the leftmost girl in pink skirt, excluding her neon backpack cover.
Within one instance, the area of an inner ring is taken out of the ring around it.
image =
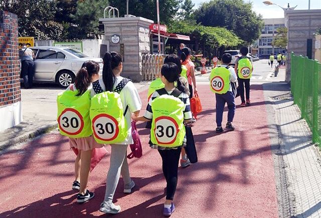
[[[91,82],[97,79],[99,79],[99,64],[91,60],[86,61],[78,71],[75,77],[75,83],[71,84],[67,90],[74,91],[76,96],[81,96],[85,94],[88,89],[90,90],[89,87],[91,86]],[[90,105],[88,105],[88,110],[89,106]],[[73,125],[73,122],[71,122],[72,119],[70,120],[71,123],[69,123],[67,117],[63,117],[62,119],[63,126],[69,127],[69,125]],[[92,150],[94,148],[102,147],[104,144],[97,143],[92,136],[78,138],[69,137],[69,143],[71,148],[75,147],[78,149],[78,155],[75,160],[75,181],[72,184],[72,189],[79,191],[77,194],[77,202],[83,203],[94,197],[94,193],[86,189]]]

